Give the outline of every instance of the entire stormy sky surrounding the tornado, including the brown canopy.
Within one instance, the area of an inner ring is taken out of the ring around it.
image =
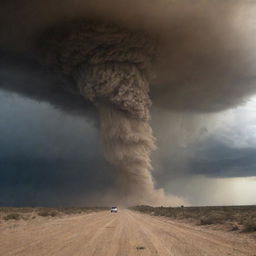
[[[155,187],[176,204],[256,204],[255,8],[244,0],[3,1],[0,205],[115,205],[117,170],[104,159],[98,113],[75,83],[90,71],[88,59],[68,74],[42,63],[84,57],[84,41],[61,40],[57,57],[45,42],[56,24],[63,30],[54,36],[65,38],[68,24],[88,19],[156,43],[149,93]]]

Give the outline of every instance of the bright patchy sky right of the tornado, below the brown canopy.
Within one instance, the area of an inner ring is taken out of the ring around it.
[[[255,204],[255,107],[254,96],[236,108],[197,118],[201,133],[190,126],[195,137],[187,143],[181,140],[174,152],[168,151],[168,139],[160,140],[162,158],[156,179],[165,190],[191,205]]]

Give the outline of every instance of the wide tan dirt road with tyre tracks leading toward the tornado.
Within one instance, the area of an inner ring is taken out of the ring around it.
[[[256,256],[256,240],[120,210],[1,223],[0,255]]]

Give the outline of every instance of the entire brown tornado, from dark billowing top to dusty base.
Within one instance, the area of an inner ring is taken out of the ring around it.
[[[106,160],[117,173],[126,205],[164,200],[154,189],[150,155],[149,83],[156,58],[154,39],[113,24],[79,21],[48,30],[41,59],[74,80],[98,110]]]

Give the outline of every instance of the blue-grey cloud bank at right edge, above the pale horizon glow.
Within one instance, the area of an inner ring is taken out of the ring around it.
[[[232,148],[220,141],[200,145],[190,161],[190,173],[210,177],[256,176],[256,148]]]

